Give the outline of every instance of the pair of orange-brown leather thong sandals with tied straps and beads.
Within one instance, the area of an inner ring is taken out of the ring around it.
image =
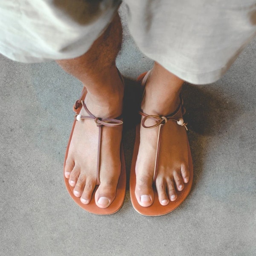
[[[145,87],[145,84],[151,74],[151,70],[148,72],[145,72],[141,74],[138,77],[138,81],[140,81],[141,85]],[[101,142],[102,142],[102,129],[104,126],[109,126],[113,127],[116,125],[122,125],[122,120],[121,116],[116,117],[115,119],[101,119],[97,118],[94,116],[90,111],[87,109],[85,103],[84,103],[84,98],[86,96],[87,90],[83,89],[81,93],[81,97],[79,100],[76,101],[75,105],[73,106],[73,110],[76,113],[76,118],[73,123],[73,128],[70,134],[70,139],[69,143],[67,145],[67,150],[66,150],[66,155],[65,155],[65,160],[64,160],[64,166],[66,164],[67,160],[67,155],[69,151],[69,146],[71,142],[71,138],[73,135],[73,131],[76,125],[76,122],[81,122],[81,119],[91,119],[93,120],[96,125],[99,127],[99,142],[98,142],[98,161],[97,161],[97,183],[96,183],[96,189],[94,189],[93,195],[92,195],[92,200],[90,201],[89,204],[82,204],[80,201],[80,198],[76,197],[73,193],[74,187],[70,186],[69,180],[65,177],[64,175],[64,180],[65,180],[65,185],[67,187],[67,191],[69,192],[70,196],[73,198],[73,200],[78,204],[81,208],[86,210],[87,212],[91,212],[94,214],[98,215],[110,215],[115,212],[117,212],[123,205],[124,200],[125,200],[125,192],[126,192],[126,171],[125,171],[125,157],[124,157],[124,152],[122,148],[122,144],[120,147],[120,160],[121,160],[121,173],[119,176],[119,181],[117,184],[116,188],[116,197],[111,203],[110,206],[107,208],[99,208],[96,206],[95,203],[95,192],[97,190],[97,186],[100,183],[99,180],[99,169],[100,169],[100,152],[101,152]],[[87,112],[87,116],[81,116],[80,111],[81,109],[84,108],[85,111]],[[136,127],[136,139],[135,139],[135,144],[134,144],[134,154],[132,158],[132,164],[131,164],[131,174],[130,174],[130,194],[131,194],[131,202],[133,204],[134,209],[139,212],[142,215],[147,215],[147,216],[160,216],[160,215],[165,215],[169,212],[172,212],[174,209],[176,209],[180,204],[186,199],[186,197],[189,195],[189,192],[192,187],[192,180],[193,180],[193,165],[192,165],[192,157],[191,157],[191,152],[190,152],[190,147],[189,147],[189,141],[187,139],[187,147],[188,147],[188,163],[189,163],[189,182],[184,184],[184,188],[182,191],[177,191],[177,199],[175,201],[170,201],[168,205],[163,206],[160,204],[159,200],[157,200],[157,190],[155,187],[155,180],[157,177],[157,167],[158,167],[158,157],[159,157],[159,152],[160,152],[160,146],[161,146],[161,134],[163,129],[169,129],[168,123],[169,122],[176,122],[177,125],[180,126],[182,129],[186,129],[186,123],[183,121],[183,114],[184,114],[184,108],[183,108],[183,101],[182,99],[180,100],[180,105],[176,109],[175,112],[170,114],[169,116],[156,116],[156,115],[147,115],[143,112],[140,112],[140,115],[143,116],[142,123],[141,125],[144,128],[158,128],[158,141],[157,141],[157,152],[156,152],[156,159],[155,159],[155,167],[154,167],[154,177],[152,181],[152,186],[154,190],[154,201],[149,207],[142,207],[140,204],[137,202],[136,196],[135,196],[135,186],[136,186],[136,174],[135,174],[135,164],[137,160],[137,155],[138,155],[138,150],[139,150],[139,145],[140,145],[140,124],[137,125]],[[147,119],[151,119],[155,121],[155,124],[152,126],[146,126],[145,121]],[[172,132],[170,130],[170,132]],[[186,134],[186,133],[185,133]]]

